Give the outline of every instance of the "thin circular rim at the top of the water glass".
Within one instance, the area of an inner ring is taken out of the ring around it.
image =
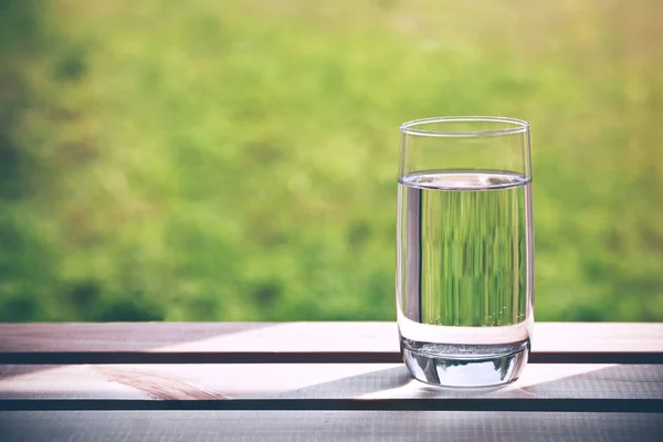
[[[418,126],[425,126],[431,123],[504,123],[511,125],[492,130],[427,130],[419,129]],[[524,119],[511,117],[493,117],[493,116],[453,116],[453,117],[431,117],[413,119],[403,123],[400,127],[402,134],[419,135],[423,137],[496,137],[501,135],[522,134],[529,130],[529,123]]]

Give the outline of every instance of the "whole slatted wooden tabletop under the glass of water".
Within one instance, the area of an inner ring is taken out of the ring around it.
[[[411,380],[392,323],[0,325],[1,441],[663,441],[663,324],[535,326],[503,388]]]

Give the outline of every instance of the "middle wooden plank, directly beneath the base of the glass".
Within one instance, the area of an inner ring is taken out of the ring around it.
[[[663,365],[529,365],[498,388],[411,379],[403,365],[150,365],[0,368],[0,399],[391,399],[663,401]],[[9,406],[8,406],[9,407]]]

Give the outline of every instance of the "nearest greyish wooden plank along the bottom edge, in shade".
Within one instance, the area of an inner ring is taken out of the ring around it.
[[[466,411],[19,411],[8,442],[660,441],[663,414]]]

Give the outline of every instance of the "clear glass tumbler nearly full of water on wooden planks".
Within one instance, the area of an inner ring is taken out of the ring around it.
[[[527,364],[530,169],[526,122],[472,116],[401,126],[396,292],[414,378],[495,386]]]

